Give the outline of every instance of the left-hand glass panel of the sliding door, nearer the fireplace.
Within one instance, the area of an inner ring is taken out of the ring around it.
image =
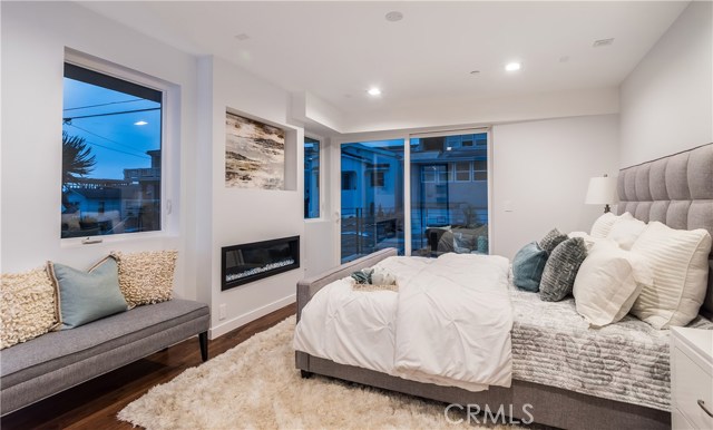
[[[403,150],[403,139],[342,145],[342,263],[385,247],[404,254]]]

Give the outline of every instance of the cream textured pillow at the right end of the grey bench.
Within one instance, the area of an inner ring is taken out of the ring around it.
[[[170,300],[177,251],[111,253],[119,263],[119,287],[130,307]]]

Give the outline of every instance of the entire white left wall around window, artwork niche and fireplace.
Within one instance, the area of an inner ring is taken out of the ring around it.
[[[290,96],[228,62],[197,59],[71,2],[2,2],[1,270],[47,260],[87,268],[109,251],[177,248],[177,296],[212,306],[212,336],[294,301],[306,267],[221,292],[221,247],[303,235],[302,136],[290,125]],[[60,241],[65,47],[166,80],[179,88],[177,130],[166,148],[174,214],[168,234]],[[160,55],[157,55],[159,52]],[[286,187],[226,188],[225,111],[287,130]],[[329,242],[329,241],[325,241]],[[330,242],[331,243],[331,242]],[[319,246],[314,246],[319,250]],[[303,255],[304,255],[303,238]],[[312,261],[320,263],[318,254]],[[225,304],[226,317],[218,309]]]

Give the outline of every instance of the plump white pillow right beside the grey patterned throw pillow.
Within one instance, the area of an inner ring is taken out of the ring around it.
[[[597,241],[579,266],[573,295],[577,313],[594,326],[624,317],[653,272],[642,255],[621,250],[616,242]]]

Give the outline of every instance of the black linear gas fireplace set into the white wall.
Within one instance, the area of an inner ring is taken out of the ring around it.
[[[225,246],[222,291],[300,267],[300,236]]]

